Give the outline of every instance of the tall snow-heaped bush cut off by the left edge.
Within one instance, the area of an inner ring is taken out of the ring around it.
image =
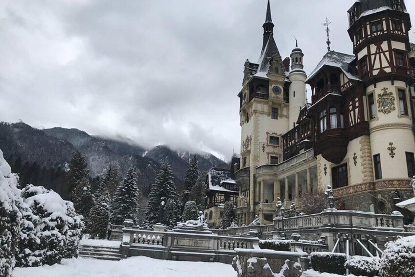
[[[0,150],[0,276],[9,277],[15,266],[22,203],[17,178]]]

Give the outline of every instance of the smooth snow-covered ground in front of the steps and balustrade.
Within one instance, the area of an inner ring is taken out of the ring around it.
[[[16,268],[13,277],[235,277],[231,265],[131,257],[121,261],[64,259],[62,264]]]

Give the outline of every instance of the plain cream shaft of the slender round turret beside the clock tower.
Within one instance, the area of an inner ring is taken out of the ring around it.
[[[306,80],[307,75],[302,72],[292,72],[288,78],[291,81],[289,91],[290,111],[288,116],[288,127],[291,129],[293,128],[293,123],[295,124],[298,120],[300,108],[305,105],[306,95],[304,81]],[[295,97],[294,92],[296,92]]]

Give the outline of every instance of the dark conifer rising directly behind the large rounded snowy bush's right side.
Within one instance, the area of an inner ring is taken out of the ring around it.
[[[83,215],[85,221],[88,222],[94,199],[91,193],[90,182],[86,177],[82,178],[82,180],[78,182],[78,185],[72,192],[72,196],[75,212]]]

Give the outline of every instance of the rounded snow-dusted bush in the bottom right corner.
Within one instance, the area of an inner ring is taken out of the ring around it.
[[[415,276],[415,236],[398,238],[386,244],[380,259],[379,276]]]

